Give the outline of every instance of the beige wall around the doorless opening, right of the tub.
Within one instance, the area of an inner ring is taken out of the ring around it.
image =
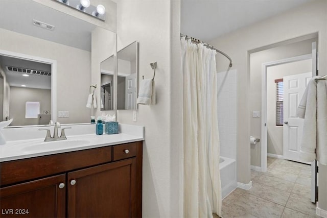
[[[249,27],[223,35],[209,41],[233,59],[233,69],[237,69],[237,168],[238,181],[250,182],[250,55],[289,39],[318,33],[319,59],[327,59],[327,1],[316,0],[292,9],[286,13],[268,18]],[[217,56],[218,70],[228,66],[228,60]],[[319,74],[325,75],[327,62],[319,61]],[[319,170],[319,207],[327,210],[327,166]]]

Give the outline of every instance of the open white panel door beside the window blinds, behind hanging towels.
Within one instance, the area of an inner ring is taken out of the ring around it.
[[[303,119],[296,116],[297,107],[312,78],[312,72],[283,78],[284,83],[284,158],[303,162],[299,158]],[[310,163],[309,163],[310,164]]]

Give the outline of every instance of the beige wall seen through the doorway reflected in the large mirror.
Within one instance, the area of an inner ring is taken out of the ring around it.
[[[51,111],[51,90],[10,87],[10,126],[38,125],[38,118],[25,118],[26,102],[40,102],[40,113]]]

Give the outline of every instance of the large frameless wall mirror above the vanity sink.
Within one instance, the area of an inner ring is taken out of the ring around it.
[[[2,1],[0,122],[89,123],[91,72],[104,55],[115,54],[115,38],[109,30],[32,0]],[[39,103],[36,117],[26,116],[27,102]]]

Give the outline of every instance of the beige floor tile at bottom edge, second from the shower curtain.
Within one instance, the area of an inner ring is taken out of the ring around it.
[[[265,199],[244,193],[231,206],[237,205],[240,210],[258,217],[281,217],[284,207]]]

